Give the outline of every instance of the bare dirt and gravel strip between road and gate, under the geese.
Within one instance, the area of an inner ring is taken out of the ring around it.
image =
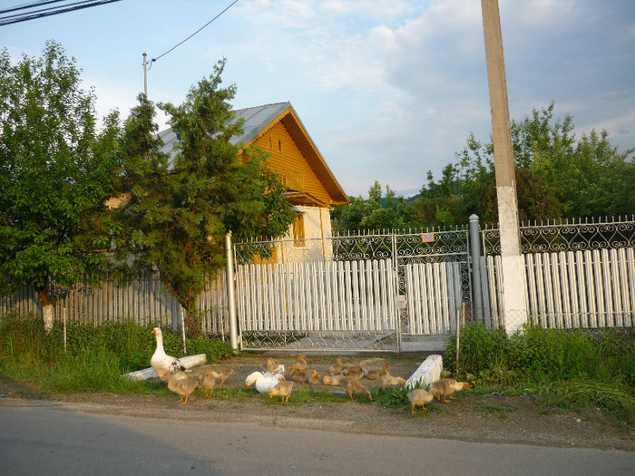
[[[277,364],[292,364],[297,355],[239,355],[206,368],[230,367],[234,373],[225,385],[244,386],[245,377],[262,370],[268,357]],[[309,369],[326,371],[336,357],[308,355]],[[425,355],[350,355],[342,361],[368,368],[390,364],[390,373],[407,379],[425,360]],[[366,384],[371,387],[372,382]],[[297,384],[309,385],[309,384]],[[312,385],[313,386],[313,385]],[[284,427],[306,427],[336,432],[409,435],[473,442],[525,443],[545,446],[583,447],[635,451],[635,431],[607,422],[600,410],[591,414],[541,413],[529,398],[499,397],[464,393],[453,403],[429,403],[428,411],[386,409],[365,401],[347,401],[338,387],[314,386],[343,397],[334,403],[271,403],[269,396],[255,390],[239,398],[222,399],[215,391],[205,398],[193,393],[187,406],[175,396],[112,393],[44,394],[32,385],[0,380],[0,405],[64,405],[85,413],[118,413],[140,417],[161,417],[186,421],[251,422]],[[360,400],[362,398],[360,397]]]

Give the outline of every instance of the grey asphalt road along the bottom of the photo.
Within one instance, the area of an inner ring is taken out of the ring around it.
[[[0,407],[2,475],[631,475],[634,452]]]

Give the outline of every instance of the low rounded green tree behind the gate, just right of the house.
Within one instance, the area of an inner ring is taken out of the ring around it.
[[[382,187],[378,181],[368,189],[368,199],[349,197],[349,203],[339,205],[331,214],[338,232],[359,230],[393,230],[416,228],[415,209],[403,197],[395,197],[395,190]]]

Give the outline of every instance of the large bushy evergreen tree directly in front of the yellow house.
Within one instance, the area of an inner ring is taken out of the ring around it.
[[[160,151],[154,107],[143,95],[122,140],[122,191],[130,195],[118,210],[120,252],[132,252],[135,269],[158,269],[193,337],[200,335],[197,297],[225,263],[227,231],[237,239],[284,236],[296,217],[267,154],[230,142],[242,121],[233,121],[230,106],[236,87],[220,87],[224,66],[217,63],[181,106],[159,105],[178,140],[173,160]]]

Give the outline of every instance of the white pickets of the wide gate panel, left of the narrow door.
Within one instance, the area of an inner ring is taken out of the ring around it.
[[[241,265],[240,328],[250,331],[395,329],[390,259]]]

